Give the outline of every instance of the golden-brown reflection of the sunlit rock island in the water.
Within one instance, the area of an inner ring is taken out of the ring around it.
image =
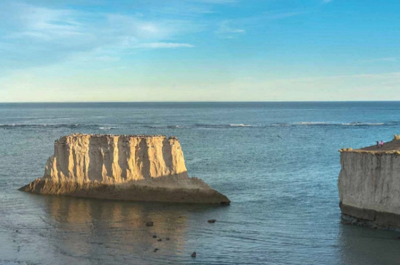
[[[102,262],[129,255],[138,261],[184,251],[189,205],[99,201],[71,197],[46,197],[46,222],[54,226],[50,240],[67,256]],[[146,227],[152,220],[153,227]],[[152,235],[166,239],[161,242]],[[154,248],[160,249],[152,256]],[[151,254],[150,254],[151,252]]]

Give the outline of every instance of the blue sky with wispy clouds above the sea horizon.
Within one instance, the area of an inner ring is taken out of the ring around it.
[[[400,1],[0,6],[0,102],[400,100]]]

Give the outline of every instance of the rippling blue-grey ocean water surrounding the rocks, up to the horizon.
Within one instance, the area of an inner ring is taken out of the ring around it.
[[[74,132],[176,135],[232,204],[18,191]],[[400,262],[399,232],[340,223],[337,190],[338,149],[391,140],[400,102],[0,104],[0,133],[0,264]]]

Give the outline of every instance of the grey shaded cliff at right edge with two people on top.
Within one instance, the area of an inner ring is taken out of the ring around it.
[[[383,147],[340,150],[338,179],[343,216],[353,223],[400,227],[400,140]]]

